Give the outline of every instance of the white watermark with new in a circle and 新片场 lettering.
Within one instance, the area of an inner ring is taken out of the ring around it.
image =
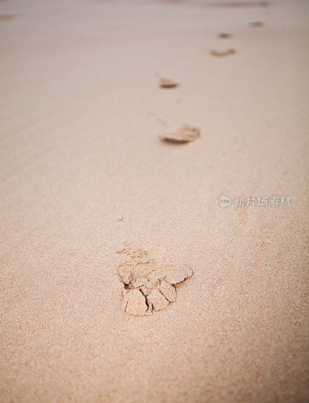
[[[290,196],[236,196],[234,198],[234,207],[289,207]],[[231,204],[231,199],[227,196],[220,196],[219,205],[224,208]]]

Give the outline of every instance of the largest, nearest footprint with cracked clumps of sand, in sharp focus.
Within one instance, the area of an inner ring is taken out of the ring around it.
[[[142,248],[125,247],[117,251],[125,253],[127,260],[119,264],[118,278],[123,298],[121,309],[130,315],[151,315],[176,301],[175,285],[193,275],[186,264],[171,264],[166,259],[157,261]]]

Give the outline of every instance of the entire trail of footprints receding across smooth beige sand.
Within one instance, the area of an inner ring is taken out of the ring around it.
[[[259,2],[260,4],[260,2]],[[261,2],[263,5],[263,2]],[[250,23],[251,27],[263,27],[262,22]],[[221,39],[233,37],[232,34],[221,32]],[[210,54],[216,57],[227,56],[236,53],[229,48],[224,51],[210,50]],[[159,87],[163,89],[177,88],[179,83],[172,79],[159,76]],[[165,121],[161,121],[166,125]],[[197,127],[182,125],[175,131],[170,131],[160,136],[162,141],[173,143],[191,142],[201,136]],[[119,219],[119,221],[121,221]],[[153,310],[165,309],[177,298],[176,285],[182,283],[193,275],[193,270],[185,263],[171,264],[164,259],[150,258],[145,249],[132,249],[128,244],[117,251],[125,254],[127,259],[122,261],[117,269],[121,284],[122,304],[121,309],[130,315],[151,315]]]

